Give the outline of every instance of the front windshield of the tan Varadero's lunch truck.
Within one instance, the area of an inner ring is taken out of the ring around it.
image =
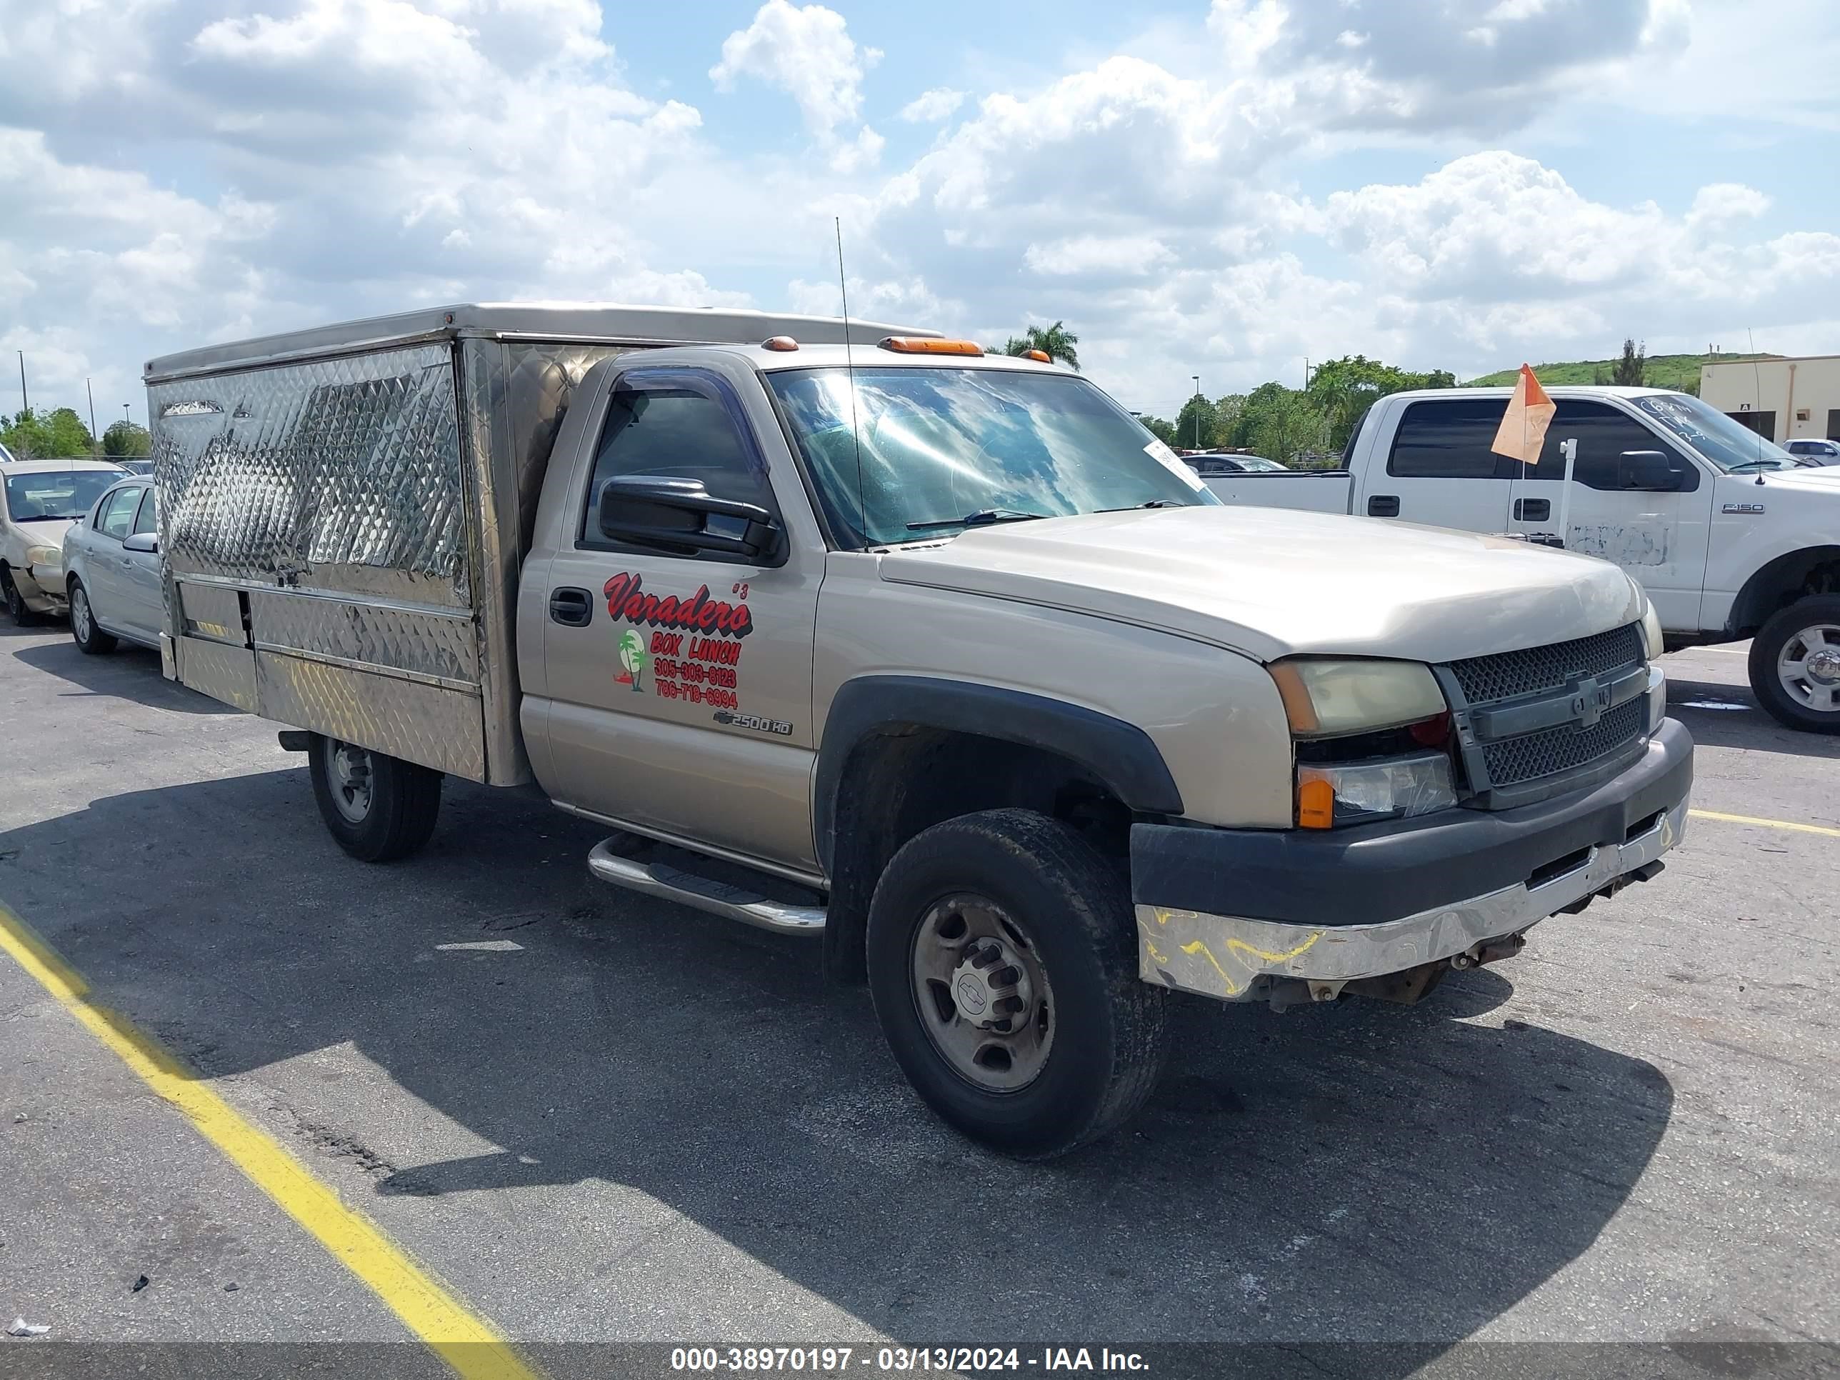
[[[845,545],[1220,502],[1130,412],[1065,374],[859,368],[861,460],[848,372],[775,370],[767,381]]]

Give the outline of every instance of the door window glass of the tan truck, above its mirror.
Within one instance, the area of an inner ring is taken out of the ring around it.
[[[701,385],[650,383],[644,375],[615,385],[578,528],[583,546],[613,546],[600,534],[600,489],[624,475],[699,478],[716,499],[775,512],[765,460],[714,385],[705,392]],[[723,558],[710,552],[703,559]]]

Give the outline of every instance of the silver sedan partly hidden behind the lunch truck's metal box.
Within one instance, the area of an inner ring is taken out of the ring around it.
[[[70,635],[92,655],[112,651],[116,638],[160,646],[166,605],[156,504],[153,480],[127,478],[64,530]]]

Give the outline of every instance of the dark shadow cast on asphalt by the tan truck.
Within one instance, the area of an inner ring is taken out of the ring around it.
[[[1132,1126],[994,1159],[907,1091],[863,992],[799,940],[594,883],[600,834],[451,784],[429,850],[366,868],[304,771],[259,773],[0,834],[0,896],[204,1075],[259,1071],[241,1100],[348,1196],[368,1179],[412,1249],[574,1334],[788,1340],[721,1284],[732,1253],[684,1240],[712,1233],[907,1343],[1443,1347],[1592,1246],[1673,1111],[1643,1060],[1466,1023],[1512,992],[1490,972],[1415,1008],[1183,1001]],[[661,1305],[686,1288],[708,1297]]]

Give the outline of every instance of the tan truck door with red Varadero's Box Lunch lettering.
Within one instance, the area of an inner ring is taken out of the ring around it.
[[[576,460],[569,535],[546,574],[552,773],[580,810],[808,872],[824,550],[786,530],[804,486],[778,429],[751,420],[749,388],[760,392],[751,372],[633,364],[591,399],[598,432]],[[764,396],[751,401],[771,420]],[[602,489],[635,477],[699,480],[714,499],[765,508],[778,539],[745,558],[609,537]]]

